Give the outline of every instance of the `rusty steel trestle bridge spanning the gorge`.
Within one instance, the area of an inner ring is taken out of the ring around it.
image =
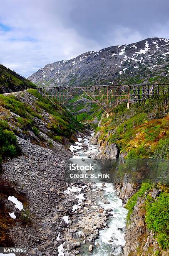
[[[56,107],[66,105],[76,95],[84,94],[107,114],[122,102],[134,103],[169,92],[169,84],[134,84],[112,86],[37,87],[42,96]]]

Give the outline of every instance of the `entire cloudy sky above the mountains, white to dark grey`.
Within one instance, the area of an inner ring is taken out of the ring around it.
[[[169,38],[168,0],[0,0],[0,63],[26,77],[149,37]]]

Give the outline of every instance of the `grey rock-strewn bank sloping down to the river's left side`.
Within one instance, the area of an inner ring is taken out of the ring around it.
[[[49,140],[46,135],[44,139]],[[18,143],[22,155],[2,164],[1,178],[15,187],[19,199],[20,195],[24,198],[20,199],[21,212],[4,200],[16,216],[8,228],[10,241],[15,247],[26,247],[26,255],[70,256],[92,251],[99,229],[107,225],[110,215],[96,205],[103,198],[102,187],[65,183],[64,165],[72,153],[61,144],[52,141],[51,150],[20,137]]]

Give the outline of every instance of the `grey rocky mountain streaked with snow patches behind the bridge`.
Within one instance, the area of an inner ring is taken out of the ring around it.
[[[139,84],[169,81],[169,39],[88,51],[67,61],[47,64],[28,77],[37,86]]]

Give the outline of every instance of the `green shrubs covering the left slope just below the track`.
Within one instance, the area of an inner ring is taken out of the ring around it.
[[[39,136],[39,128],[36,127],[34,118],[43,120],[43,110],[50,115],[50,120],[47,123],[47,129],[50,130],[48,136],[56,141],[62,141],[62,137],[72,141],[73,134],[75,134],[77,130],[80,131],[83,129],[82,125],[66,109],[56,109],[36,90],[29,89],[28,92],[37,98],[33,105],[22,102],[15,95],[0,95],[0,105],[18,115],[16,118],[16,126],[19,127],[23,133],[27,134],[28,131],[33,131],[36,136]],[[14,129],[14,132],[17,134],[17,129]]]

